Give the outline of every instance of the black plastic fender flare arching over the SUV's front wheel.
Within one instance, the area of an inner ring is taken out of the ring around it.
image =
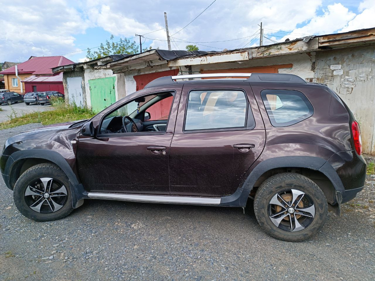
[[[65,158],[58,152],[47,150],[47,149],[29,149],[29,150],[20,150],[12,153],[9,156],[6,165],[5,165],[5,175],[8,175],[11,171],[14,163],[21,159],[27,158],[40,158],[51,161],[55,163],[69,178],[69,188],[72,193],[72,206],[73,208],[78,208],[83,204],[82,199],[88,198],[86,195],[86,191],[84,190],[83,185],[78,181],[77,176],[73,172],[72,168],[69,166],[68,162],[66,162]],[[8,185],[8,184],[7,184]],[[9,187],[9,186],[8,186]],[[10,187],[9,187],[10,188]]]

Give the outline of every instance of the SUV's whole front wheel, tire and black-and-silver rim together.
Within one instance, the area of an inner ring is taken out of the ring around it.
[[[21,214],[35,221],[59,220],[73,211],[69,179],[50,163],[26,170],[15,184],[13,197]]]

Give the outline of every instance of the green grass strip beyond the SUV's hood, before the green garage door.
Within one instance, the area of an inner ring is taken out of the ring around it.
[[[61,98],[51,99],[51,105],[55,108],[54,110],[32,112],[21,116],[12,112],[12,114],[9,115],[9,121],[0,123],[0,130],[30,123],[49,125],[66,121],[89,119],[96,114],[88,108],[81,108],[77,105],[67,105]]]

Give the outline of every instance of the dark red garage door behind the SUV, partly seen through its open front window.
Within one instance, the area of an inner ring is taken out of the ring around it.
[[[163,77],[163,76],[173,76],[178,74],[178,69],[172,69],[167,71],[161,72],[154,72],[154,73],[147,73],[141,75],[133,76],[136,82],[136,90],[142,90],[145,85],[150,83],[151,81],[155,80],[156,78]],[[151,120],[164,120],[167,119],[169,114],[169,109],[172,105],[173,97],[168,97],[166,99],[161,100],[160,102],[155,103],[151,106],[147,111],[151,115]]]

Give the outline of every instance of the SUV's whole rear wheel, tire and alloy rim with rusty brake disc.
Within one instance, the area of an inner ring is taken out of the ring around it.
[[[328,205],[323,191],[297,173],[281,173],[264,181],[254,199],[255,216],[274,238],[298,242],[323,227]]]

